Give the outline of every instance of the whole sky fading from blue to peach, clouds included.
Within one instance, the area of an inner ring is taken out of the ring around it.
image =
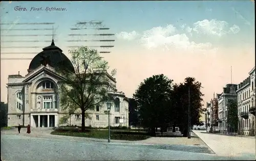
[[[154,74],[164,74],[174,83],[191,76],[202,83],[206,104],[214,93],[222,93],[227,83],[242,82],[255,65],[252,1],[1,2],[0,7],[4,102],[8,75],[20,72],[25,76],[30,61],[50,45],[53,34],[55,45],[67,57],[72,46],[109,51],[100,54],[111,69],[117,70],[117,89],[127,97],[132,97],[139,84]],[[50,11],[52,7],[63,11]],[[37,8],[41,10],[33,10]],[[89,21],[102,21],[97,27],[109,30],[76,24]],[[54,24],[18,24],[43,22]],[[115,41],[82,41],[103,39]],[[99,45],[114,47],[95,47]]]

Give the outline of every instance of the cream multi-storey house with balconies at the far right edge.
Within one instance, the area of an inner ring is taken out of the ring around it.
[[[238,85],[239,135],[255,135],[255,67]]]

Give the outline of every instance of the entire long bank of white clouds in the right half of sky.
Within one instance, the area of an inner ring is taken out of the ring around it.
[[[146,30],[142,33],[135,31],[131,33],[121,32],[117,34],[117,38],[125,40],[134,40],[142,44],[148,49],[164,48],[164,49],[180,49],[180,50],[214,50],[210,42],[195,42],[192,36],[195,34],[214,35],[221,37],[225,34],[237,34],[240,32],[238,25],[229,26],[226,21],[216,19],[197,21],[193,26],[182,24],[177,29],[174,25],[157,26]],[[190,35],[190,36],[189,36]],[[188,37],[189,36],[189,37]]]

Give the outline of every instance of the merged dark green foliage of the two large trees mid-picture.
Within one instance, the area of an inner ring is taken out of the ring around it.
[[[202,109],[201,83],[194,77],[184,83],[172,84],[163,74],[153,75],[140,84],[133,98],[137,102],[138,121],[143,127],[180,126],[186,131],[188,120],[188,91],[190,92],[190,124],[199,123]],[[185,135],[185,134],[184,134]]]

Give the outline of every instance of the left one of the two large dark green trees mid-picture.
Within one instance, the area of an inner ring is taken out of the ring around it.
[[[157,127],[165,126],[169,121],[168,108],[173,80],[163,74],[144,79],[133,98],[138,103],[139,121],[143,127],[151,129],[155,136]]]

